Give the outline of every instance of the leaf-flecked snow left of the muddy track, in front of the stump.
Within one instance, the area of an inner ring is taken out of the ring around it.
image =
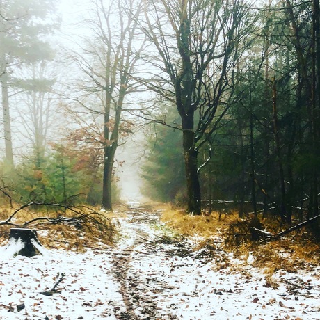
[[[123,305],[107,253],[50,250],[42,256],[8,258],[7,252],[0,259],[1,320],[116,319],[114,307]],[[52,289],[61,273],[65,278],[56,288],[61,294],[40,294]],[[25,308],[17,312],[22,303]]]

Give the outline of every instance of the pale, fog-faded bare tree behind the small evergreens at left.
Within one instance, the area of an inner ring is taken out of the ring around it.
[[[31,63],[21,71],[21,79],[13,86],[23,93],[16,97],[16,108],[19,117],[19,134],[31,145],[35,161],[39,164],[45,155],[49,136],[57,134],[58,99],[54,93],[57,80],[54,65],[48,61]],[[27,80],[22,80],[27,79]]]

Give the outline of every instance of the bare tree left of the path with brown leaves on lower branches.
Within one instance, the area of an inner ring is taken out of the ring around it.
[[[97,138],[104,149],[102,207],[112,209],[111,182],[115,151],[120,134],[126,131],[123,111],[127,97],[136,92],[140,84],[132,79],[136,72],[144,40],[138,36],[137,21],[141,14],[141,1],[92,1],[93,17],[86,20],[93,38],[84,39],[81,53],[73,52],[72,59],[83,77],[77,86],[81,97],[74,97],[80,106],[81,118],[86,113],[95,122],[102,122]],[[83,119],[84,120],[84,119]]]

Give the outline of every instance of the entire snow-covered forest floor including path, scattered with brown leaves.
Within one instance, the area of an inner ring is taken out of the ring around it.
[[[131,205],[112,248],[41,248],[27,258],[2,246],[0,319],[320,319],[319,265],[264,273],[253,255],[223,250],[218,236],[214,249],[196,250],[196,239],[170,234],[160,216]]]

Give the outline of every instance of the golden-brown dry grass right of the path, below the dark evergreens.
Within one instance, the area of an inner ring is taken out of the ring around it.
[[[184,236],[201,237],[203,240],[199,241],[197,248],[214,248],[212,257],[215,261],[218,249],[223,248],[226,252],[234,253],[234,257],[239,258],[243,265],[253,264],[270,275],[281,269],[296,272],[298,269],[312,268],[320,262],[319,243],[307,239],[305,230],[293,232],[277,241],[251,241],[248,221],[239,219],[237,212],[222,216],[216,212],[209,216],[190,216],[184,211],[166,209],[162,221]],[[266,218],[262,224],[272,232],[280,231],[280,225],[276,225],[274,218]],[[219,255],[221,261],[217,262],[218,268],[230,264],[226,256]],[[248,262],[249,256],[253,257],[252,262]]]

